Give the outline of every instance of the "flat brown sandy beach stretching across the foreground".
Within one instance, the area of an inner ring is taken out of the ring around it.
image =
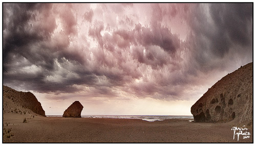
[[[39,115],[33,118],[31,114],[14,113],[4,113],[3,117],[3,142],[252,142],[253,136],[240,136],[237,141],[233,139],[231,123],[194,123],[190,119],[150,122]],[[28,123],[23,123],[25,117]],[[251,129],[247,131],[252,133]]]

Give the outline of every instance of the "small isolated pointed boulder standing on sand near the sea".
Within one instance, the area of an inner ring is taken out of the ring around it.
[[[83,106],[80,102],[75,101],[72,105],[65,110],[62,117],[81,117]]]

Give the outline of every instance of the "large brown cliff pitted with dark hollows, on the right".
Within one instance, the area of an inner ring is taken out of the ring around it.
[[[225,123],[234,120],[251,125],[252,76],[252,63],[248,63],[223,77],[191,107],[195,121]]]

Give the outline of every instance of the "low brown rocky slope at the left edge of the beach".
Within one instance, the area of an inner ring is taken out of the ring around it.
[[[19,92],[7,86],[3,86],[3,108],[4,112],[13,113],[16,111],[24,111],[25,113],[25,110],[29,109],[29,111],[36,114],[46,116],[44,109],[42,109],[34,94],[31,92]]]

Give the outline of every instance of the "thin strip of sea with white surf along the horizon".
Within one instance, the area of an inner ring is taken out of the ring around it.
[[[47,115],[48,117],[62,117],[62,115]],[[193,115],[81,115],[82,118],[130,118],[130,119],[142,119],[146,121],[156,121],[164,119],[175,118],[191,118],[189,121],[193,121]]]

